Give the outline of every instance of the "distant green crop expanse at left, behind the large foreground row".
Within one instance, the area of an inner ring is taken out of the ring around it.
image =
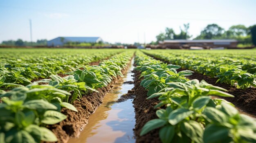
[[[112,55],[120,53],[118,50],[66,50],[58,49],[12,49],[10,53],[0,51],[0,88],[6,89],[15,84],[28,85],[39,78],[48,78],[50,75],[75,70],[76,65],[87,65]],[[9,50],[7,50],[9,51]],[[27,53],[24,53],[27,51]],[[52,51],[52,52],[49,52]],[[78,52],[82,53],[78,53]],[[45,54],[45,53],[47,54]],[[57,53],[58,54],[57,54]],[[64,53],[65,52],[65,53]],[[15,59],[14,59],[15,58]]]

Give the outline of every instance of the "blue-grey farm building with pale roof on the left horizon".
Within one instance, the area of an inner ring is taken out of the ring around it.
[[[63,46],[67,42],[98,43],[103,42],[101,37],[57,37],[47,41],[47,46]]]

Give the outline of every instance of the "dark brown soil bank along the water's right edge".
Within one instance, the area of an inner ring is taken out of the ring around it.
[[[157,98],[154,99],[146,99],[147,91],[144,87],[140,86],[140,82],[143,78],[139,79],[140,73],[135,71],[135,86],[132,88],[134,91],[135,98],[133,100],[134,108],[135,108],[135,129],[134,134],[136,137],[136,143],[161,143],[159,139],[159,129],[152,130],[145,134],[144,136],[139,136],[142,127],[152,119],[156,119],[157,116],[155,114],[156,110],[154,106],[159,103]]]

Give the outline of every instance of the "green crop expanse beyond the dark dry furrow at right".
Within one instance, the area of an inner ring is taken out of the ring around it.
[[[217,82],[236,85],[246,89],[256,87],[256,60],[254,51],[144,51],[148,55],[157,57],[166,62],[180,65],[207,75],[218,78]],[[212,52],[212,53],[211,53]],[[221,53],[220,53],[221,52]],[[233,53],[232,53],[233,52]]]

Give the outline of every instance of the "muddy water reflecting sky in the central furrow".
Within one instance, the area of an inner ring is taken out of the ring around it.
[[[103,103],[89,117],[88,124],[79,138],[72,138],[68,143],[134,143],[133,128],[135,127],[135,112],[133,99],[117,103],[117,99],[131,90],[134,84],[124,84],[133,81],[133,59],[124,78],[118,81],[113,90],[103,99]]]

